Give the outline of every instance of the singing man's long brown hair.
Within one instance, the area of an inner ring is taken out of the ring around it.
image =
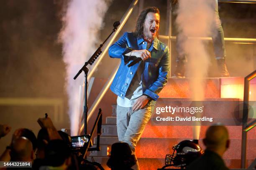
[[[135,31],[133,32],[133,35],[136,37],[143,37],[143,24],[148,13],[158,13],[160,16],[160,11],[157,7],[148,7],[141,11],[141,14],[137,18]]]

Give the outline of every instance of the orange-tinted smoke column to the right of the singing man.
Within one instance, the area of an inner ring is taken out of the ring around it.
[[[204,100],[207,69],[210,62],[205,41],[195,37],[209,37],[214,22],[215,0],[179,0],[177,25],[185,38],[182,48],[188,57],[187,72],[190,79],[192,100]],[[200,126],[193,128],[194,139],[199,139]]]

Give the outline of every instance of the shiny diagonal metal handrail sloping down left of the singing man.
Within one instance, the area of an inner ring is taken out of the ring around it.
[[[120,20],[120,25],[118,27],[118,29],[115,31],[115,33],[110,37],[110,40],[107,42],[104,50],[102,50],[102,54],[101,57],[98,58],[97,62],[95,62],[95,66],[92,68],[91,72],[88,75],[88,79],[90,79],[90,77],[92,76],[93,72],[96,70],[97,66],[100,64],[100,61],[102,60],[102,58],[105,56],[105,54],[108,52],[108,48],[110,47],[111,44],[113,44],[113,41],[115,40],[115,38],[117,37],[118,33],[120,32],[120,30],[123,28],[123,26],[125,25],[126,21],[128,20],[128,18],[131,16],[131,13],[134,10],[134,7],[138,4],[138,0],[133,0],[133,2],[131,3],[131,5],[128,7],[128,10],[125,12],[125,14],[123,15],[123,17]],[[95,111],[96,107],[99,105],[100,101],[102,100],[103,96],[105,95],[105,93],[107,92],[108,88],[110,87],[110,84],[112,83],[115,73],[117,72],[119,67],[118,66],[115,68],[115,70],[112,72],[110,78],[108,79],[108,81],[105,83],[104,87],[102,88],[102,90],[100,91],[99,95],[97,96],[97,98],[95,99],[94,103],[92,104],[92,106],[90,107],[90,110],[88,111],[88,117],[87,117],[87,121],[90,120],[90,118],[92,117],[92,113]],[[84,129],[84,122],[82,122],[81,128],[79,133],[82,133]]]

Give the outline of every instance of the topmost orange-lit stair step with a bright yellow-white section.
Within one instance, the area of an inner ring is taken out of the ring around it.
[[[190,78],[169,78],[166,86],[159,93],[160,97],[191,97]],[[205,98],[240,98],[243,99],[243,77],[205,78]],[[256,80],[250,81],[251,94],[256,93]],[[251,95],[251,101],[256,95]]]

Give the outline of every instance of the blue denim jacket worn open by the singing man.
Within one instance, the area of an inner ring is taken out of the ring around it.
[[[128,67],[128,64],[136,57],[125,56],[131,50],[143,50],[146,47],[147,42],[143,38],[135,37],[132,32],[125,32],[115,44],[109,47],[109,56],[121,59],[118,71],[110,86],[110,89],[116,95],[122,98],[125,97],[133,76],[142,62],[141,81],[143,94],[151,97],[152,100],[158,99],[158,93],[166,85],[170,70],[169,47],[155,37],[151,47],[148,49],[151,52],[151,58]]]

